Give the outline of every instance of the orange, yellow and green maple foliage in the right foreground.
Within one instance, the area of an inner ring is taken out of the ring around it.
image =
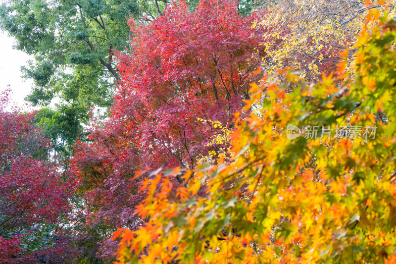
[[[258,109],[236,114],[232,160],[189,170],[176,188],[180,168],[145,179],[137,212],[149,219],[115,233],[119,262],[394,263],[396,21],[384,7],[357,36],[354,75],[344,60],[316,83],[266,77],[245,101]],[[290,140],[288,124],[321,129]]]

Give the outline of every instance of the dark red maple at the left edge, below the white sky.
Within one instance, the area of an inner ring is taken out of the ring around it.
[[[55,254],[48,234],[71,209],[74,181],[50,157],[36,113],[9,110],[8,93],[0,96],[0,259],[34,262],[33,252]]]

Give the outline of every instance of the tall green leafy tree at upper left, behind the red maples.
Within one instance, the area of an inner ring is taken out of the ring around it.
[[[45,110],[41,122],[54,136],[53,143],[60,140],[70,148],[81,123],[89,118],[90,107],[111,106],[120,80],[114,52],[128,47],[127,18],[154,19],[164,4],[161,0],[7,0],[1,4],[1,29],[15,38],[15,49],[34,56],[22,69],[26,78],[34,80],[27,100],[34,106],[58,102],[56,110]]]

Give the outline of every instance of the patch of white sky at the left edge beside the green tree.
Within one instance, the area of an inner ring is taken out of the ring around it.
[[[0,91],[11,88],[11,100],[17,106],[24,107],[24,98],[30,93],[32,80],[23,79],[21,66],[26,65],[31,56],[24,52],[12,49],[14,39],[7,36],[6,32],[0,31]]]

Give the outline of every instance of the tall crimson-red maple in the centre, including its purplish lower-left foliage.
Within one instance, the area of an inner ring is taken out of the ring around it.
[[[115,251],[106,238],[116,227],[143,222],[135,211],[149,173],[134,178],[137,170],[193,169],[208,152],[226,148],[211,141],[234,126],[265,55],[256,48],[263,30],[251,28],[253,19],[233,1],[204,0],[195,12],[180,1],[148,24],[130,20],[131,53],[117,54],[122,80],[111,115],[93,121],[91,142],[77,144],[72,165],[87,199],[87,228],[104,234],[98,255]]]

